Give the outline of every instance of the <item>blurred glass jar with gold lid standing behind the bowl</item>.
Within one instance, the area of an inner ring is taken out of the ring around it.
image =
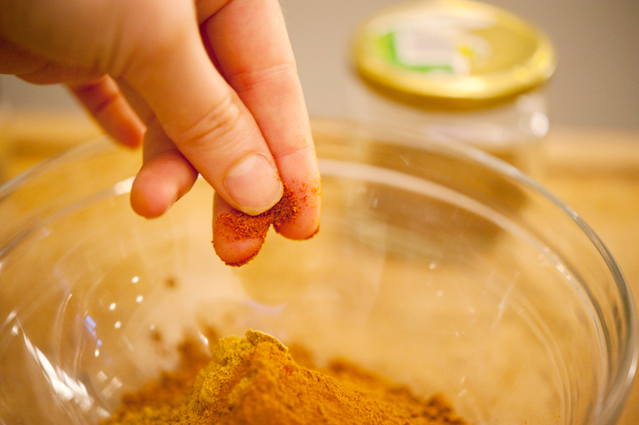
[[[535,167],[557,65],[542,31],[487,4],[420,1],[369,18],[352,47],[351,118]]]

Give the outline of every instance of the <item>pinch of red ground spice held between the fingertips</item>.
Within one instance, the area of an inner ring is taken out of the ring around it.
[[[298,211],[298,202],[295,192],[284,185],[282,198],[268,211],[251,216],[242,211],[233,210],[220,214],[215,220],[214,231],[222,233],[229,242],[242,241],[244,239],[259,238],[262,241],[271,226],[277,230],[278,226],[295,220]],[[240,266],[255,258],[259,250],[239,263],[226,263],[227,265]]]

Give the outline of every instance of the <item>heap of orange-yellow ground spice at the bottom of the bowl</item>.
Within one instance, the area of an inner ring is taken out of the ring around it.
[[[160,403],[148,399],[158,388],[147,386],[140,404],[124,404],[102,424],[466,424],[441,397],[422,399],[346,360],[305,368],[280,341],[258,331],[220,340],[212,361],[190,382],[187,392],[172,387],[175,398]]]

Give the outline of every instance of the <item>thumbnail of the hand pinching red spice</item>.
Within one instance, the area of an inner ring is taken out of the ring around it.
[[[284,187],[278,172],[264,155],[244,158],[224,178],[224,187],[241,211],[256,215],[277,204]]]

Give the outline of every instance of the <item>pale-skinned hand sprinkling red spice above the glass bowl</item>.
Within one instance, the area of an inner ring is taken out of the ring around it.
[[[305,202],[278,230],[317,231],[317,158],[277,0],[0,0],[0,72],[67,84],[114,139],[143,145],[141,216],[164,214],[200,174],[214,218],[266,211],[286,184]],[[227,263],[261,245],[214,241]]]

